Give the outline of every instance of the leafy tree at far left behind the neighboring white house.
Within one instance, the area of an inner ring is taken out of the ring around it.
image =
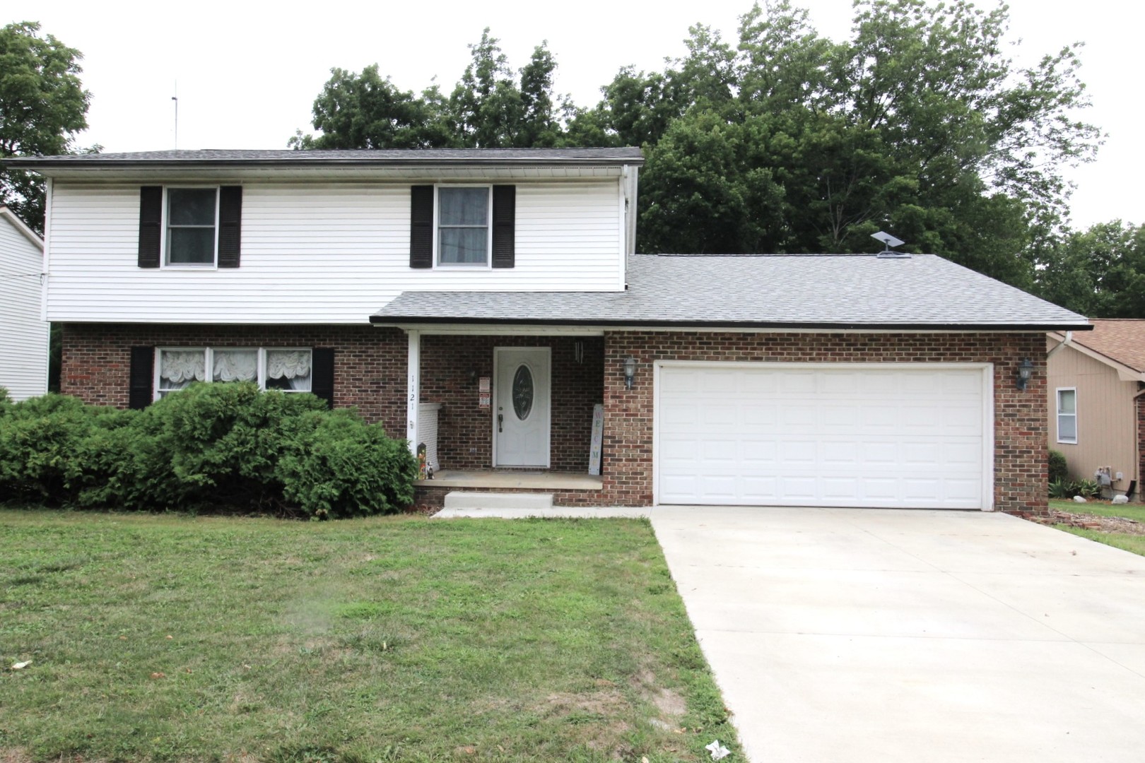
[[[79,79],[82,54],[39,32],[35,22],[0,29],[0,160],[69,153],[76,133],[87,127],[92,94]],[[44,181],[39,176],[0,170],[0,204],[44,232]]]

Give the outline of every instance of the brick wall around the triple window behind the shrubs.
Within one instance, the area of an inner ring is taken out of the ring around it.
[[[133,347],[325,347],[334,350],[334,405],[357,406],[405,437],[405,334],[372,326],[175,326],[65,324],[60,388],[127,407]]]

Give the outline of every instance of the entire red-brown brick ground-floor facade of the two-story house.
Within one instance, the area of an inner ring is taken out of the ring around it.
[[[477,408],[469,372],[492,375],[492,348],[553,348],[553,468],[584,471],[592,404],[605,403],[605,488],[560,495],[561,503],[646,506],[652,502],[655,360],[993,363],[995,365],[995,507],[1045,511],[1047,399],[1042,334],[735,334],[610,332],[583,337],[424,336],[423,395],[444,404],[443,467],[490,463],[490,411]],[[129,351],[137,345],[331,347],[334,403],[356,405],[393,436],[405,429],[405,336],[370,326],[144,326],[69,324],[63,333],[62,390],[105,405],[127,405]],[[623,361],[640,361],[624,388]],[[1013,379],[1022,358],[1035,365],[1026,391]],[[1145,403],[1143,403],[1145,405]],[[1143,421],[1145,452],[1145,408]],[[474,453],[474,448],[476,452]],[[1145,464],[1143,464],[1145,466]]]

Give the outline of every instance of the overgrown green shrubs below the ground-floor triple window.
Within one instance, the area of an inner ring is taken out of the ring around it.
[[[404,442],[309,394],[191,384],[143,411],[0,404],[0,499],[325,518],[408,506],[414,478]]]

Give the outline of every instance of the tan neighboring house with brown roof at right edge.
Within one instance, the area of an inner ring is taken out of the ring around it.
[[[1049,334],[1050,447],[1074,478],[1108,468],[1112,487],[1140,493],[1145,458],[1145,320],[1093,319],[1093,329]],[[1120,478],[1118,475],[1121,475]]]

